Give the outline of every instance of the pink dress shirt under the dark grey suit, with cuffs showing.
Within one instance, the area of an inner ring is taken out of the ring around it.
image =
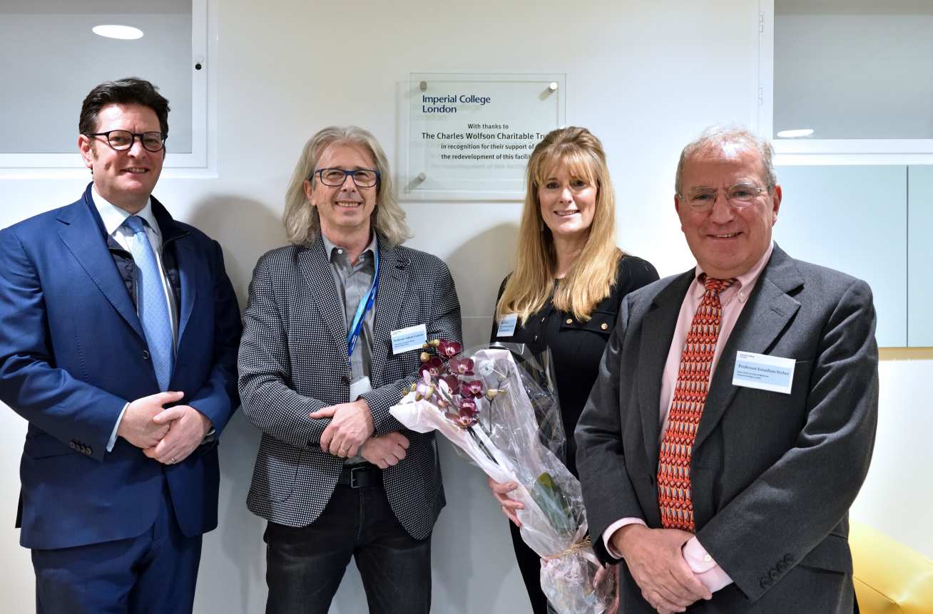
[[[719,356],[722,354],[722,348],[726,345],[726,341],[729,340],[729,335],[735,327],[735,322],[738,321],[739,316],[742,314],[742,309],[748,301],[748,296],[755,288],[755,284],[758,282],[762,269],[764,269],[764,266],[771,258],[773,249],[774,243],[772,242],[768,247],[768,251],[764,252],[764,255],[761,256],[761,259],[755,266],[745,274],[736,278],[736,283],[719,294],[719,302],[722,305],[722,319],[719,321],[719,339],[716,343],[716,351],[713,354],[713,365],[710,369],[709,376],[711,379],[713,374],[716,373],[716,365],[719,362]],[[671,407],[671,399],[674,396],[674,388],[677,383],[677,371],[680,368],[680,354],[683,352],[684,342],[687,339],[690,323],[693,321],[693,314],[696,313],[697,307],[700,307],[703,293],[706,292],[703,283],[699,281],[702,274],[703,268],[697,265],[696,276],[687,289],[684,302],[680,305],[680,313],[677,315],[677,325],[674,329],[674,339],[671,340],[671,348],[667,351],[667,362],[664,363],[664,372],[661,375],[661,433],[658,436],[659,442],[664,438],[664,430],[667,429],[667,416]],[[610,547],[609,538],[612,537],[613,533],[626,525],[645,525],[645,521],[641,518],[621,518],[609,525],[606,531],[603,532],[603,543],[606,545],[606,551],[617,558],[620,557],[620,554]],[[687,565],[689,565],[693,573],[696,574],[697,579],[703,582],[703,585],[708,588],[711,593],[732,583],[729,574],[727,574],[722,567],[717,565],[713,557],[710,556],[709,553],[706,552],[706,549],[700,544],[699,539],[689,539],[689,541],[684,544],[682,552]]]

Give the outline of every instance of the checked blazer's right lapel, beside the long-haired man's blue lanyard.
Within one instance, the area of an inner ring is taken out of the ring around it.
[[[392,331],[398,328],[398,314],[408,286],[408,258],[397,247],[383,248],[379,242],[379,286],[376,288],[375,313],[372,318],[372,364],[369,367],[372,385],[383,384],[382,374],[392,346]]]

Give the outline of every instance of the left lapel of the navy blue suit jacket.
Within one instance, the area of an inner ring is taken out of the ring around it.
[[[136,334],[145,339],[146,335],[143,334],[143,326],[136,315],[130,293],[126,291],[126,285],[120,279],[113,256],[107,250],[101,234],[100,225],[91,213],[92,206],[86,193],[83,200],[63,209],[58,216],[59,237],[123,320]]]

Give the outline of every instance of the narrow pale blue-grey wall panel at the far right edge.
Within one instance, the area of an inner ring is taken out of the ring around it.
[[[907,344],[933,347],[933,166],[907,171]]]

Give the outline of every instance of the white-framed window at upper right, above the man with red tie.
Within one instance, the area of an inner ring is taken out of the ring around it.
[[[759,131],[783,159],[933,162],[933,2],[759,10]]]

